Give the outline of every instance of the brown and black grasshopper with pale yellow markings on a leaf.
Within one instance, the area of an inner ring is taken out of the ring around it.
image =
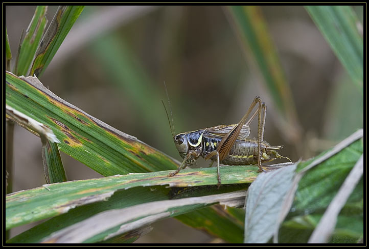
[[[255,106],[257,106],[257,109],[248,119]],[[166,113],[169,121],[167,109]],[[249,139],[249,124],[256,116],[258,116],[258,137],[257,139]],[[271,146],[268,142],[263,140],[265,117],[266,105],[262,102],[261,98],[257,96],[238,124],[218,125],[178,134],[174,134],[173,125],[173,130],[171,127],[173,140],[183,161],[178,169],[168,176],[176,175],[188,165],[194,164],[196,160],[202,156],[205,160],[212,160],[209,167],[212,167],[214,161],[217,162],[217,187],[219,188],[221,185],[219,173],[220,163],[225,165],[258,164],[259,172],[265,172],[262,168],[263,162],[269,162],[276,158],[286,158],[290,160],[288,157],[281,156],[276,152],[276,150],[282,149],[283,146]]]

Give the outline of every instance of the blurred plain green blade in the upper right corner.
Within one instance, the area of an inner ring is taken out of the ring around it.
[[[350,6],[306,6],[321,34],[332,47],[356,85],[362,89],[364,77],[362,26]]]

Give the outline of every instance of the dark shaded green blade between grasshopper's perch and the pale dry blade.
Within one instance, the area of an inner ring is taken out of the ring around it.
[[[230,192],[240,190],[245,188],[245,184],[236,184],[235,185],[227,185],[222,186],[219,190],[216,189],[214,186],[199,186],[199,187],[191,187],[191,188],[177,188],[177,189],[189,189],[188,195],[181,196],[183,197],[196,197],[202,195],[209,195],[210,193],[221,193],[221,192]],[[176,189],[176,188],[175,188]],[[178,190],[180,192],[183,192]],[[35,226],[34,228],[17,235],[16,237],[7,241],[7,243],[38,243],[43,238],[49,236],[51,233],[56,232],[62,228],[71,226],[76,224],[90,216],[93,216],[99,212],[117,209],[117,208],[124,208],[130,207],[137,204],[148,203],[153,201],[159,200],[169,200],[173,199],[173,188],[168,188],[166,186],[148,186],[148,187],[132,187],[129,189],[124,189],[120,191],[114,192],[114,194],[104,202],[95,202],[86,204],[83,206],[78,206],[74,209],[71,209],[67,213],[58,215],[53,217],[46,222]],[[177,193],[177,190],[175,191]],[[189,193],[191,192],[191,193]],[[178,197],[176,195],[175,197]],[[124,201],[122,201],[124,200]],[[196,215],[196,212],[191,212]],[[177,216],[176,216],[177,217]],[[179,217],[179,216],[178,216]],[[217,222],[217,219],[224,219],[224,215],[218,216],[218,213],[214,213],[213,215],[207,214],[208,219],[212,219]],[[107,242],[106,236],[114,236],[113,233],[116,233],[120,227],[113,229],[112,231],[100,235],[100,238],[103,238],[104,242]],[[225,233],[225,232],[223,232]],[[118,235],[119,236],[119,235]],[[94,241],[98,241],[98,238],[95,238]]]

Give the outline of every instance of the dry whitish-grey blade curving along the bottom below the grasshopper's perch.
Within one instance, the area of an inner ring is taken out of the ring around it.
[[[124,225],[121,226],[120,230],[118,231],[119,233],[127,232],[131,229],[131,227],[136,229],[136,226],[141,227],[142,225],[150,224],[153,220],[187,212],[189,209],[194,210],[203,205],[214,203],[227,205],[229,201],[233,203],[234,199],[242,199],[244,197],[245,191],[237,191],[205,197],[192,197],[178,200],[150,202],[128,208],[105,211],[85,219],[83,222],[53,233],[50,237],[46,238],[42,242],[91,242],[91,237],[101,234],[103,231],[117,227],[121,224]],[[197,208],[194,208],[194,206],[197,206]],[[99,226],[96,226],[95,224],[99,224]]]

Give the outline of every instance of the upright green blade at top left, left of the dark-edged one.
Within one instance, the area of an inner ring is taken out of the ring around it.
[[[18,61],[15,65],[16,75],[28,76],[30,66],[35,58],[36,49],[42,38],[48,20],[46,19],[47,6],[37,6],[26,35],[20,44]]]

